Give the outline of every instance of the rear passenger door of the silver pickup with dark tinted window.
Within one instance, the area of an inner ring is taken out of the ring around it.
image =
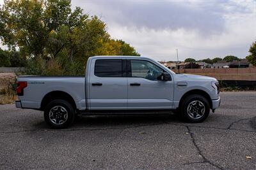
[[[90,69],[91,110],[126,110],[127,76],[123,59],[95,59]]]

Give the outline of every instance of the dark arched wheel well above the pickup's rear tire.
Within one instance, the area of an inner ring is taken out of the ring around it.
[[[43,97],[42,102],[40,104],[40,110],[44,110],[45,106],[47,106],[47,104],[49,104],[51,101],[53,101],[55,99],[63,99],[65,101],[67,101],[76,110],[76,102],[74,101],[73,97],[70,94],[68,94],[67,92],[63,92],[60,90],[55,90],[55,91],[45,94],[45,96]]]

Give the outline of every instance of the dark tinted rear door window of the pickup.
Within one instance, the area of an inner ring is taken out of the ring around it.
[[[122,77],[122,60],[98,59],[94,74],[98,77]]]

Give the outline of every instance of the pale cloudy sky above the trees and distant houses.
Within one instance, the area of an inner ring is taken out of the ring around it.
[[[106,22],[111,38],[156,60],[177,60],[176,49],[179,60],[244,58],[256,41],[255,0],[72,0],[75,6]]]

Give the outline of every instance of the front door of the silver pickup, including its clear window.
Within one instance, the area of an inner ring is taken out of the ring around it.
[[[157,80],[164,71],[149,60],[127,61],[128,109],[170,109],[173,105],[173,81]]]

